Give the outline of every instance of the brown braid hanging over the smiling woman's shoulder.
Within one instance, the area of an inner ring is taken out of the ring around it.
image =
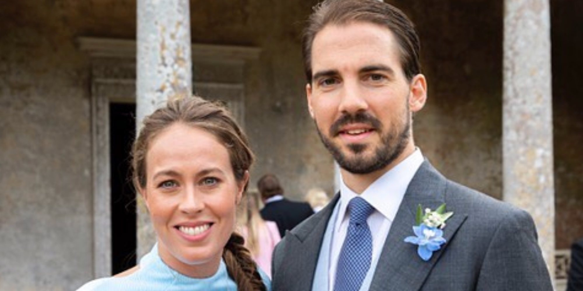
[[[266,288],[257,270],[257,265],[251,258],[251,253],[243,246],[244,243],[243,236],[235,232],[231,234],[229,242],[223,250],[227,272],[231,279],[237,283],[237,290],[265,291]]]

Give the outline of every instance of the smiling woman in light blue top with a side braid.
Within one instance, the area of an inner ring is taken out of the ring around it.
[[[80,290],[271,289],[233,232],[254,157],[226,109],[169,101],[143,120],[132,158],[157,243],[138,266]]]

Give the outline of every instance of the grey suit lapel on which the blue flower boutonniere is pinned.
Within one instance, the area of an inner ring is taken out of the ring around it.
[[[435,251],[429,261],[423,261],[417,254],[415,244],[405,243],[405,237],[414,235],[417,205],[435,210],[445,201],[447,180],[436,169],[424,161],[413,176],[405,192],[403,201],[392,222],[391,230],[382,248],[370,290],[419,290],[429,272],[445,251],[448,243]],[[449,240],[465,221],[467,215],[456,214],[448,219],[444,228],[444,238]]]

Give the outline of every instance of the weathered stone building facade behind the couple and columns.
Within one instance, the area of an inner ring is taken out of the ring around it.
[[[300,32],[316,2],[189,2],[194,90],[236,111],[258,156],[251,185],[272,172],[296,200],[313,186],[334,187],[304,94]],[[504,1],[391,3],[422,40],[429,100],[415,116],[416,143],[448,178],[504,198]],[[548,219],[555,248],[565,250],[583,237],[583,2],[551,0],[547,9]],[[96,225],[111,224],[97,193],[115,192],[102,137],[116,126],[110,104],[135,102],[135,40],[132,0],[0,2],[0,290],[75,289],[107,263],[96,263],[94,244],[108,236]]]

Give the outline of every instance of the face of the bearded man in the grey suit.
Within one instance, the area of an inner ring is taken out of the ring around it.
[[[426,84],[408,81],[399,47],[385,27],[329,24],[312,44],[308,107],[322,142],[351,173],[392,168],[412,151],[411,112],[423,107]]]

